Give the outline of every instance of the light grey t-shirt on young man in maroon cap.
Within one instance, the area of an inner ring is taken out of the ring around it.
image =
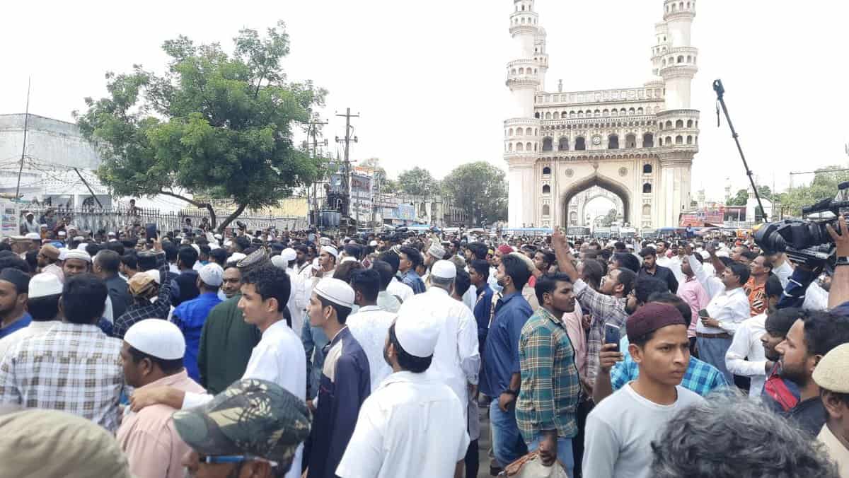
[[[675,388],[678,400],[672,405],[650,402],[628,384],[593,408],[584,436],[584,478],[648,478],[651,441],[678,410],[704,402],[680,385]]]

